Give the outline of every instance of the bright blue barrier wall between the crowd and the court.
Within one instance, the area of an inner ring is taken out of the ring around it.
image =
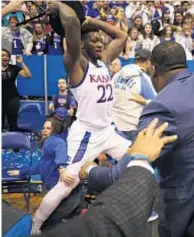
[[[134,62],[134,59],[124,60],[120,58],[121,65],[125,66]],[[44,57],[24,57],[24,62],[32,72],[32,78],[26,80],[18,77],[17,87],[20,95],[44,96]],[[52,96],[57,93],[57,81],[59,78],[67,78],[67,71],[64,67],[63,56],[47,56],[47,94]],[[188,68],[194,72],[194,60],[188,61]]]

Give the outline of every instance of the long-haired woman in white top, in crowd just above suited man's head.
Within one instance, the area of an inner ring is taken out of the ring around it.
[[[152,25],[147,23],[144,26],[144,30],[141,37],[142,48],[152,51],[153,48],[159,43],[160,41],[158,37],[154,35],[154,32],[152,30]]]

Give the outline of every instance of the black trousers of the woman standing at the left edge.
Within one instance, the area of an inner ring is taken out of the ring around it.
[[[19,97],[15,97],[6,103],[2,104],[2,129],[5,124],[5,117],[7,116],[7,121],[9,124],[10,131],[18,130],[18,111],[20,108],[20,99]]]

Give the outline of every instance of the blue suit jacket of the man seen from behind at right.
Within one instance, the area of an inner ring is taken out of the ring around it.
[[[160,173],[160,187],[167,223],[172,237],[187,231],[194,215],[194,74],[179,72],[148,104],[140,118],[139,130],[151,120],[168,122],[164,135],[177,134],[154,163]]]

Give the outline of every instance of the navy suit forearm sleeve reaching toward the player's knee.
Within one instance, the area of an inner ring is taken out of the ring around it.
[[[90,170],[88,186],[98,192],[102,192],[119,179],[120,175],[127,169],[128,157],[123,157],[113,167],[95,166]]]

